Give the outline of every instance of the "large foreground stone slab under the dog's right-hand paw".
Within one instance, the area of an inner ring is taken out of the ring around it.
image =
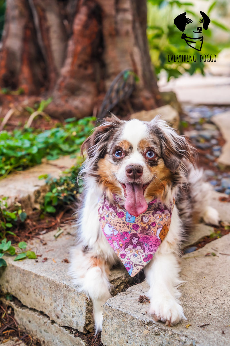
[[[154,322],[146,282],[119,293],[104,305],[101,339],[107,346],[223,346],[230,344],[230,234],[181,258],[181,302],[187,321],[168,327]],[[205,256],[214,252],[216,256]],[[147,311],[147,313],[146,313]],[[186,328],[187,324],[191,324]],[[203,324],[203,329],[200,327]],[[224,334],[222,334],[222,330]]]

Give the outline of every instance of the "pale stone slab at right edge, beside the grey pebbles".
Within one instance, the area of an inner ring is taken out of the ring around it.
[[[226,140],[217,162],[221,165],[230,167],[230,111],[211,117],[211,121],[218,126],[223,138]]]

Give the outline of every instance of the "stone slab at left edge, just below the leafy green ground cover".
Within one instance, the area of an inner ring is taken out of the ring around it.
[[[34,192],[45,185],[45,180],[38,179],[38,177],[49,174],[53,178],[58,178],[62,171],[76,164],[76,158],[70,158],[70,156],[62,156],[53,161],[43,161],[44,163],[40,165],[25,171],[13,172],[0,180],[0,198],[9,197],[8,205],[12,204],[15,199],[20,199],[26,211],[32,210]]]

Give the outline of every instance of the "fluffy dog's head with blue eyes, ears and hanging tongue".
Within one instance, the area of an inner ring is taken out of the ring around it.
[[[193,148],[159,117],[151,122],[119,120],[112,115],[82,144],[88,158],[83,171],[96,178],[110,200],[125,200],[138,216],[153,197],[164,198],[180,182]]]

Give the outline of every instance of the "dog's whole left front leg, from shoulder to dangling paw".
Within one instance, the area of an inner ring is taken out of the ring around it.
[[[95,182],[89,180],[79,210],[78,245],[72,248],[69,269],[79,292],[85,292],[93,303],[96,332],[102,328],[103,304],[111,297],[109,268],[118,258],[100,228],[98,196]]]

